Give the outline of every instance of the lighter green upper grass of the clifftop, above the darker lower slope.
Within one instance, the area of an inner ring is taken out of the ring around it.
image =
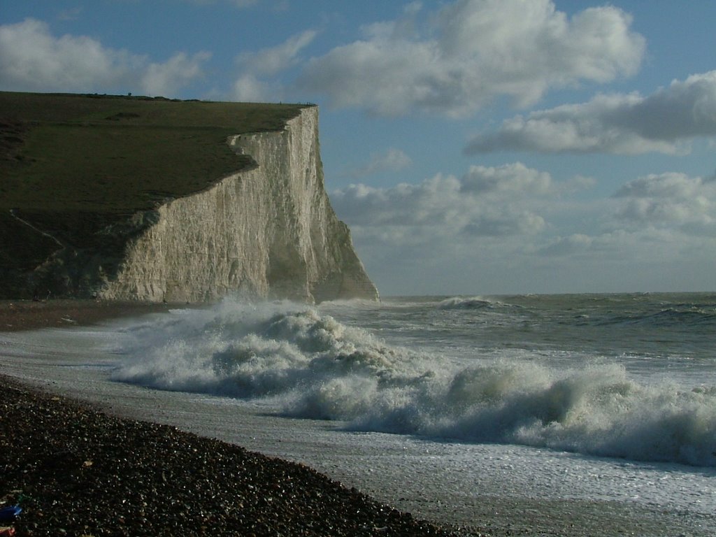
[[[253,165],[229,135],[302,105],[0,92],[0,211],[127,214]]]

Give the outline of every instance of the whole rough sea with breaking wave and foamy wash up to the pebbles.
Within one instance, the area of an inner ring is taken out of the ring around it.
[[[716,534],[716,293],[226,299],[0,353],[475,534]]]

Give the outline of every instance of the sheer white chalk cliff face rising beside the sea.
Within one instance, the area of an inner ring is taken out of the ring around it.
[[[103,276],[102,260],[83,269],[92,293],[190,302],[228,294],[377,299],[324,190],[317,107],[302,109],[281,132],[236,135],[228,143],[256,167],[143,217],[142,231],[113,261],[116,274]]]

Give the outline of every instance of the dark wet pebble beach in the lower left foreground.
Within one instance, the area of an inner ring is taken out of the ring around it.
[[[18,536],[445,536],[304,465],[120,420],[0,377]]]

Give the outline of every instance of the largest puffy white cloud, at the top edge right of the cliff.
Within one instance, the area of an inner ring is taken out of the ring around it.
[[[423,24],[419,8],[311,59],[301,85],[334,107],[459,117],[500,95],[524,106],[551,87],[634,74],[644,54],[630,16],[613,6],[569,18],[551,0],[457,0]]]

